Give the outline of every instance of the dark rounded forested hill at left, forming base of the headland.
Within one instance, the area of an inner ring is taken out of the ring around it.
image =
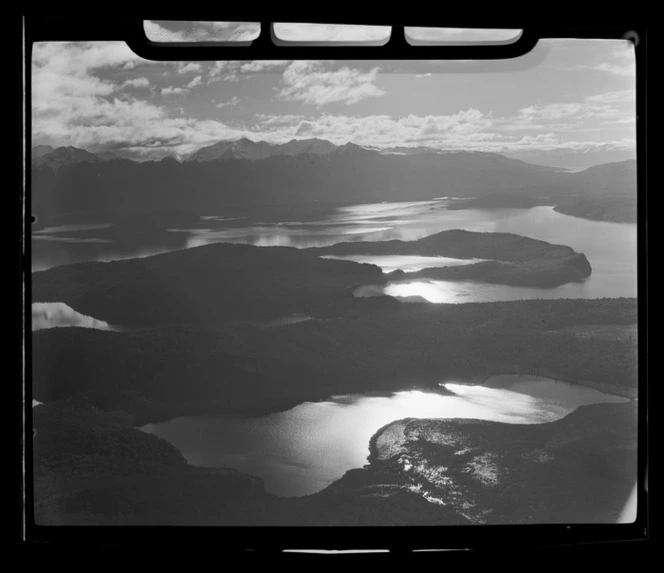
[[[207,324],[335,314],[379,267],[291,247],[216,243],[145,258],[33,273],[34,302],[64,302],[111,324]]]

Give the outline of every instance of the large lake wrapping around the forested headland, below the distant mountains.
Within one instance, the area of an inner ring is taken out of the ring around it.
[[[582,283],[555,288],[524,288],[455,281],[401,281],[384,289],[360,290],[358,296],[421,297],[430,302],[490,302],[526,298],[635,297],[636,225],[590,221],[563,215],[553,207],[450,210],[452,199],[353,205],[313,221],[264,222],[207,215],[199,225],[169,228],[119,240],[110,225],[70,225],[33,233],[33,270],[69,262],[141,257],[213,242],[258,246],[321,247],[341,241],[411,241],[449,229],[507,232],[568,245],[584,253],[592,275]],[[106,234],[105,234],[106,233]],[[111,238],[109,238],[111,237]],[[349,257],[377,264],[385,272],[429,266],[468,264],[446,257]]]

